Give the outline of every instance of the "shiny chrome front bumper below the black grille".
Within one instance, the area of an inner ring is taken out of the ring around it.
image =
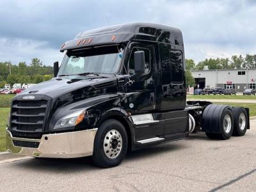
[[[6,129],[6,148],[13,154],[33,157],[74,158],[92,156],[97,129],[44,134],[41,139],[14,138]]]

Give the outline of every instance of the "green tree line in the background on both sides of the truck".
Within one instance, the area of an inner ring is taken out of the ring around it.
[[[209,58],[199,61],[197,64],[194,60],[186,59],[186,86],[194,86],[195,79],[191,70],[203,70],[205,66],[211,69],[249,69],[256,68],[256,54],[234,55],[231,58]],[[53,77],[53,67],[42,64],[38,58],[33,58],[27,65],[25,62],[19,62],[13,65],[9,62],[0,62],[0,88],[4,84],[14,83],[41,83]]]

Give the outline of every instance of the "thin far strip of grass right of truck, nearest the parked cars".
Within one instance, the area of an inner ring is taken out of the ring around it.
[[[187,95],[188,99],[256,99],[256,95]]]

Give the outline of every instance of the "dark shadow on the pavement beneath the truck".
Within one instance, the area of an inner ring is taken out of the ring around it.
[[[164,143],[154,147],[141,148],[133,152],[127,152],[124,159],[125,164],[159,156],[166,152],[180,150],[184,146],[179,143]],[[48,173],[70,173],[70,172],[93,172],[102,170],[93,164],[92,157],[81,157],[74,159],[50,159],[50,158],[31,158],[13,163],[12,166],[28,170],[28,172],[48,172]],[[122,166],[120,164],[119,166]],[[104,169],[103,169],[104,170]],[[105,169],[106,170],[106,169]]]

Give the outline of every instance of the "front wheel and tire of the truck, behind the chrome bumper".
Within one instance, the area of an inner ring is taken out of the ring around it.
[[[128,138],[123,124],[114,119],[100,125],[94,140],[93,163],[102,168],[118,166],[127,152]]]

